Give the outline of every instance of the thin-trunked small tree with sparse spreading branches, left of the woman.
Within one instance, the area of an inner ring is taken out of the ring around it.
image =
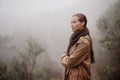
[[[23,51],[17,50],[20,54],[20,60],[16,60],[14,63],[14,70],[16,76],[19,76],[18,80],[34,80],[33,70],[36,65],[37,57],[46,50],[42,44],[33,38],[27,40],[27,45]],[[13,71],[14,71],[13,70]],[[12,75],[16,80],[15,75]]]

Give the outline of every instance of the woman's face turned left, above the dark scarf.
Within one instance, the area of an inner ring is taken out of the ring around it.
[[[79,21],[79,17],[73,16],[71,20],[72,31],[76,32],[77,30],[81,30],[84,27],[84,22]]]

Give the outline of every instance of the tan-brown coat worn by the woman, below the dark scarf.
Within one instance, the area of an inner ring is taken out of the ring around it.
[[[61,63],[65,67],[64,80],[91,80],[90,37],[80,37],[73,46],[71,55],[62,55]]]

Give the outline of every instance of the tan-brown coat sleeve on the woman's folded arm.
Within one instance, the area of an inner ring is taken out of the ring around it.
[[[83,62],[89,55],[90,45],[88,43],[85,41],[77,43],[70,56],[64,53],[61,58],[62,65],[65,67],[75,67]]]

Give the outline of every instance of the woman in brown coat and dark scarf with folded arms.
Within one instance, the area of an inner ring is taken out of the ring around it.
[[[94,63],[94,53],[87,19],[84,14],[72,16],[71,35],[67,50],[61,58],[65,67],[64,80],[91,80],[91,63]]]

